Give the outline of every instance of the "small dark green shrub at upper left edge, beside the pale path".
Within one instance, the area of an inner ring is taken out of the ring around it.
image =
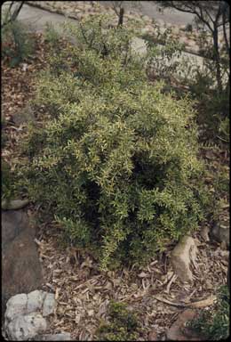
[[[14,20],[2,28],[2,56],[10,60],[14,67],[25,61],[35,48],[35,40],[28,32],[28,26]]]

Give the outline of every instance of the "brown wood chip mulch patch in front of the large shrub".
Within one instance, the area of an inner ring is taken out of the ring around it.
[[[41,226],[36,244],[45,270],[44,290],[55,293],[58,302],[51,331],[71,332],[77,340],[97,338],[100,322],[108,320],[111,299],[126,303],[139,315],[143,328],[139,340],[148,340],[151,331],[164,338],[184,308],[195,302],[199,307],[211,305],[215,289],[227,280],[228,251],[203,242],[199,233],[194,236],[199,249],[194,284],[182,285],[172,272],[172,248],[145,267],[102,273],[92,256],[61,247],[59,230],[54,223]]]

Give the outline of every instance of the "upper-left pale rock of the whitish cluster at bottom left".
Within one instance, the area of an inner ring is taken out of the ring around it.
[[[15,317],[27,313],[28,296],[25,293],[11,297],[6,303],[4,317],[7,321],[12,321]]]

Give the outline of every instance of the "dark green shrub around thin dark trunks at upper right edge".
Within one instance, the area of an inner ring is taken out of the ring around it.
[[[219,142],[218,135],[226,126],[225,135],[228,134],[229,125],[229,54],[225,45],[219,45],[219,68],[221,72],[221,89],[219,90],[217,81],[217,67],[214,61],[214,47],[208,33],[201,32],[199,35],[199,53],[206,57],[203,58],[203,68],[198,68],[195,73],[195,79],[187,79],[189,92],[198,102],[199,117],[198,122],[206,125],[204,132],[205,139]],[[187,68],[188,69],[188,66]],[[222,122],[224,121],[224,124]],[[221,130],[220,130],[221,129]],[[228,142],[227,136],[221,133],[221,140]]]

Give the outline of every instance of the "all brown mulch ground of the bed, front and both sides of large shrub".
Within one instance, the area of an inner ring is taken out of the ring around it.
[[[20,158],[18,142],[23,139],[28,127],[27,122],[17,125],[13,118],[20,115],[28,99],[34,96],[34,77],[46,65],[48,47],[43,36],[36,36],[36,44],[36,56],[27,63],[10,69],[7,61],[3,62],[2,100],[7,142],[2,158],[9,162],[12,169]],[[35,119],[42,121],[43,115],[42,111],[38,112]],[[208,148],[204,159],[209,160],[215,170],[218,171],[222,165],[228,172],[225,152]],[[212,196],[214,178],[211,176],[208,182]],[[227,206],[227,197],[223,199]],[[35,205],[30,204],[29,216],[36,216],[37,210]],[[227,217],[227,207],[224,206],[221,214]],[[149,334],[153,331],[157,339],[164,339],[165,331],[188,303],[213,295],[215,289],[227,281],[228,251],[222,250],[216,242],[205,242],[200,232],[194,234],[199,249],[194,286],[184,288],[178,279],[172,281],[170,254],[174,246],[171,244],[146,266],[102,272],[90,254],[60,244],[62,228],[59,224],[51,220],[44,224],[37,222],[37,230],[36,244],[44,267],[43,289],[55,293],[58,302],[51,320],[51,332],[68,331],[74,339],[97,338],[96,330],[100,322],[108,319],[111,299],[127,304],[138,314],[144,329],[139,340],[150,339]]]

